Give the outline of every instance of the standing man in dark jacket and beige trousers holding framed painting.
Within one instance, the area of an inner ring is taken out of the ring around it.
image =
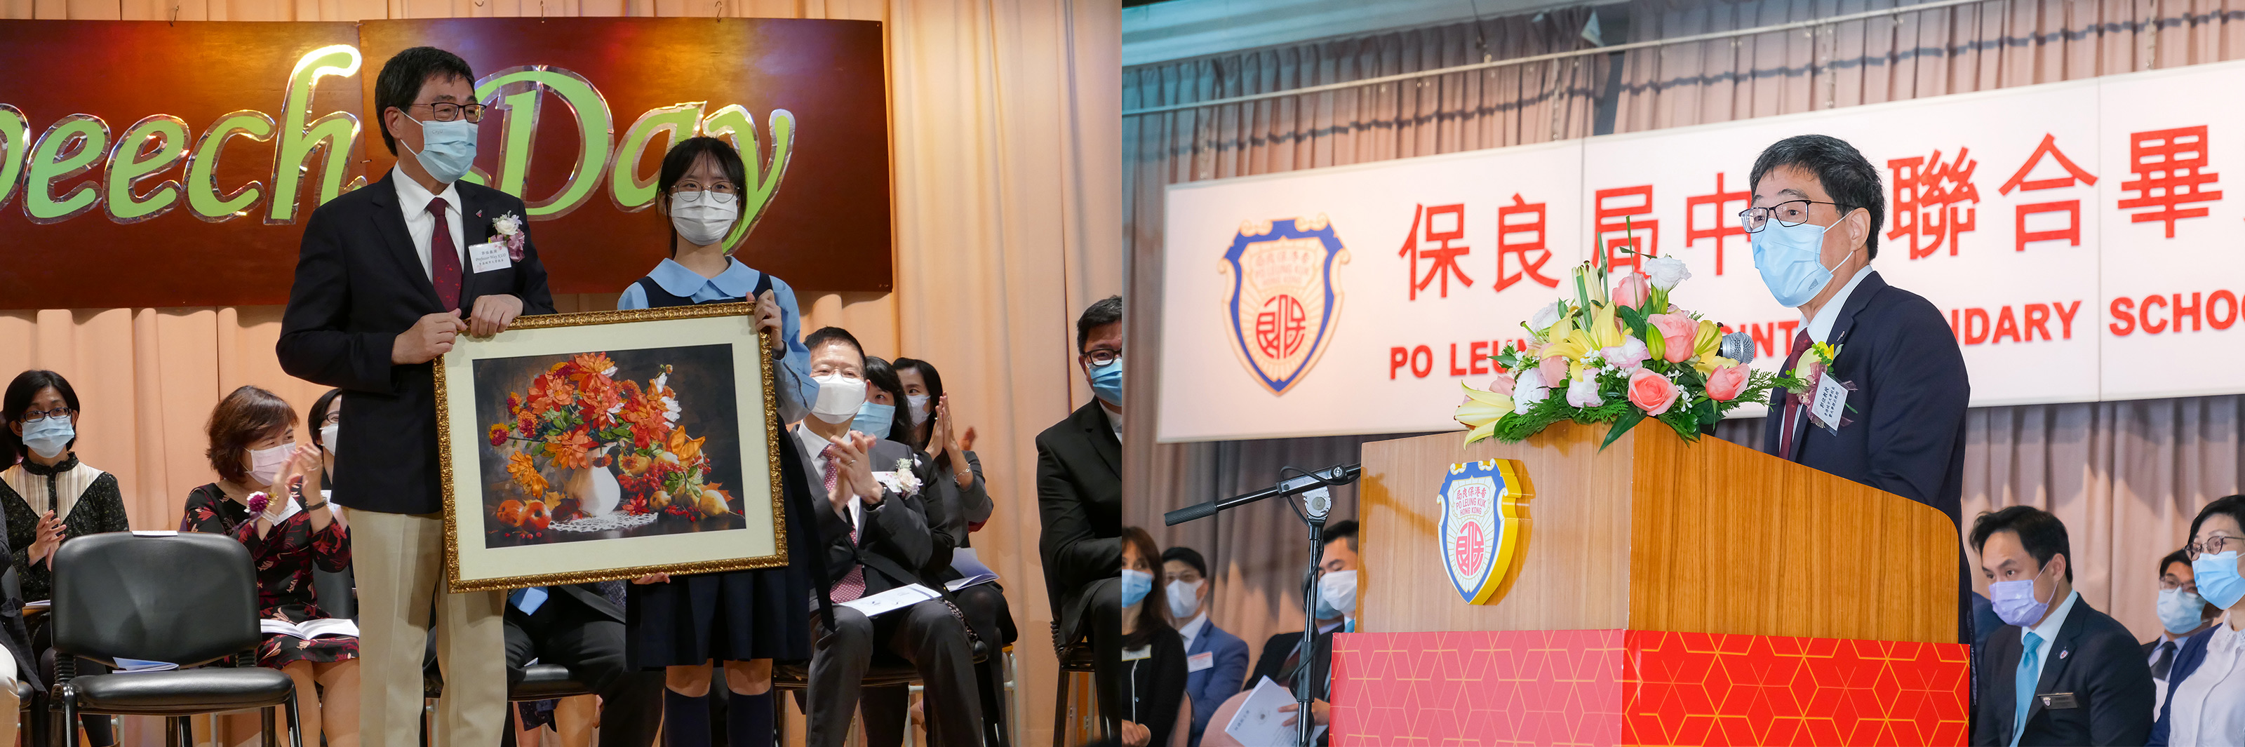
[[[492,245],[523,200],[460,182],[483,105],[460,56],[413,47],[382,65],[375,110],[397,166],[312,211],[276,352],[292,377],[343,388],[335,498],[357,552],[361,734],[420,743],[422,651],[436,608],[445,698],[436,743],[498,745],[507,671],[501,592],[442,592],[445,516],[429,361],[460,332],[487,336],[519,314],[552,314],[546,267]],[[402,153],[400,153],[402,150]]]

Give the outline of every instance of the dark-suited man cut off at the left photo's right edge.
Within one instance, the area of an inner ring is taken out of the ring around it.
[[[1060,639],[1091,639],[1100,713],[1122,713],[1122,296],[1075,319],[1075,366],[1093,399],[1037,433],[1037,550]]]

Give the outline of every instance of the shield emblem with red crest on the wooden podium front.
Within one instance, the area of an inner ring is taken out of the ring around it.
[[[1529,552],[1536,487],[1518,460],[1450,464],[1441,480],[1441,565],[1466,603],[1497,603]]]

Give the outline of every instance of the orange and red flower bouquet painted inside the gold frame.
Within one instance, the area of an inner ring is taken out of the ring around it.
[[[532,377],[528,395],[510,390],[505,422],[487,428],[507,471],[489,532],[537,541],[734,514],[703,453],[707,437],[678,424],[671,366],[653,370],[642,386],[620,379],[606,352],[586,352]]]

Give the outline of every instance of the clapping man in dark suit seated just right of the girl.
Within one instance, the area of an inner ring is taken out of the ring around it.
[[[864,402],[864,348],[837,328],[822,328],[804,339],[810,348],[810,377],[819,381],[819,402],[810,417],[792,428],[795,446],[806,455],[804,469],[822,485],[826,502],[817,511],[819,543],[826,547],[826,588],[833,606],[833,628],[813,621],[810,747],[840,747],[851,731],[851,713],[864,695],[864,671],[876,657],[902,657],[920,671],[927,693],[927,738],[934,745],[981,743],[981,702],[974,698],[974,644],[965,617],[943,597],[902,610],[867,617],[844,601],[887,590],[923,585],[920,570],[934,554],[927,507],[920,489],[898,491],[882,485],[876,471],[916,462],[914,449],[851,431]],[[855,402],[846,393],[855,390]],[[920,487],[934,471],[914,469]],[[869,743],[894,745],[905,734],[905,704],[894,698],[867,700]]]

